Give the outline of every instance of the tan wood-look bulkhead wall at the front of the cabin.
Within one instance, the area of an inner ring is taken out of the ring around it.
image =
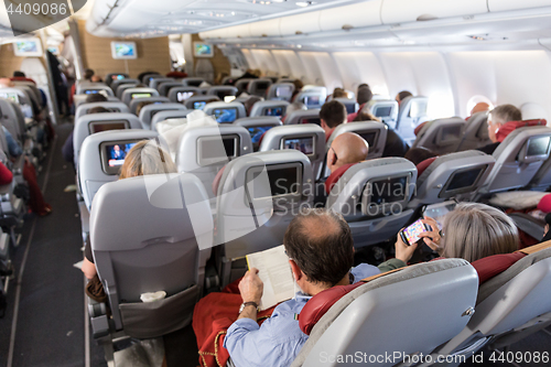
[[[145,71],[154,71],[163,75],[171,71],[169,37],[132,40],[138,47],[138,58],[114,60],[111,41],[120,40],[94,36],[86,31],[85,24],[86,21],[78,21],[83,64],[84,67],[94,69],[97,75],[105,77],[108,73],[125,73],[126,65],[128,65],[130,77],[137,77]]]

